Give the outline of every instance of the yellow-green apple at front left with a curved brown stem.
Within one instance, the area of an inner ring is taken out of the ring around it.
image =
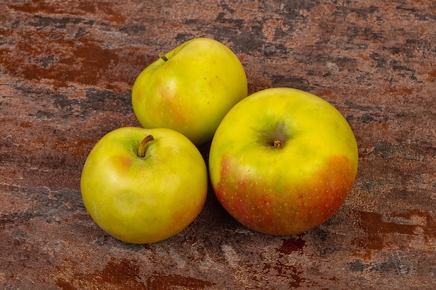
[[[203,156],[171,129],[123,127],[93,147],[81,174],[86,210],[104,232],[153,243],[185,229],[208,191]]]

